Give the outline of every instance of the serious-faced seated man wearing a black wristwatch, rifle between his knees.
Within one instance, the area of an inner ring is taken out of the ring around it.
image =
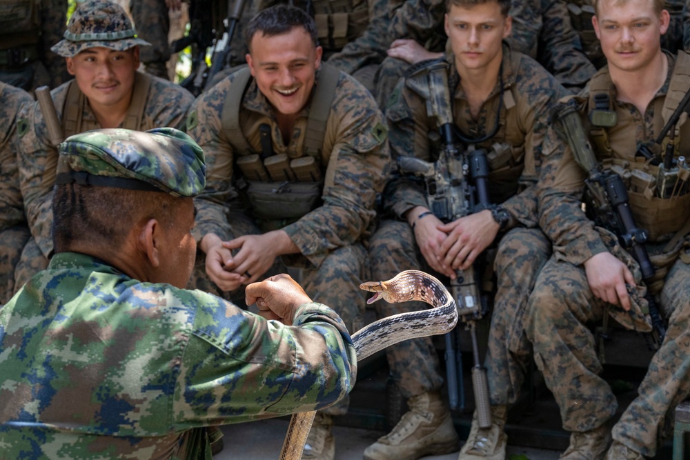
[[[386,185],[384,212],[397,220],[382,221],[370,239],[373,279],[426,267],[442,277],[455,277],[455,270],[484,259],[480,254],[497,240],[494,270],[499,288],[486,357],[493,425],[478,429],[476,417],[473,419],[460,459],[505,456],[507,406],[519,395],[530,357],[522,314],[536,275],[550,254],[548,240],[536,228],[535,182],[546,132],[546,109],[566,92],[533,59],[502,42],[511,32],[509,7],[509,1],[449,2],[445,25],[453,54],[443,61],[445,69],[434,70],[447,73],[453,128],[464,137],[460,148],[474,145],[489,152],[489,194],[491,203],[499,206],[444,223],[429,211],[424,184],[395,172]],[[473,55],[473,50],[481,51]],[[389,143],[394,159],[417,157],[433,162],[442,146],[436,115],[428,113],[428,101],[412,84],[420,72],[424,70],[406,76],[393,92],[386,110]],[[400,304],[396,308],[420,306]],[[436,402],[429,408],[412,408],[391,434],[366,450],[368,460],[398,459],[407,451],[421,456],[435,443],[443,447],[442,440],[451,440],[449,430],[453,426],[444,426],[450,414],[439,402],[443,379],[431,343],[416,340],[406,349],[394,346],[390,350],[388,362],[402,394],[411,397],[413,403],[416,395],[430,394]],[[415,367],[425,363],[424,374],[411,369],[410,363]],[[433,413],[431,421],[415,421],[429,411]],[[416,430],[408,428],[413,421],[418,423]],[[408,437],[397,434],[411,432],[415,433]]]

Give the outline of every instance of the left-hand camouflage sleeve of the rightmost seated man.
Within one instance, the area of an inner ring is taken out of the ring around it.
[[[556,257],[580,265],[607,250],[594,223],[582,211],[586,174],[553,128],[544,141],[544,161],[538,183],[539,225]]]

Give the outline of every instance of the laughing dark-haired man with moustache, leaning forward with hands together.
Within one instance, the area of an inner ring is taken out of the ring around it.
[[[203,252],[196,282],[241,292],[281,261],[301,269],[306,292],[338,306],[355,331],[366,306],[358,288],[368,273],[362,241],[389,161],[382,113],[353,77],[321,64],[315,24],[303,10],[262,10],[246,41],[248,70],[201,94],[188,118],[208,164],[206,190],[196,200]],[[320,129],[311,129],[312,118],[322,119]],[[278,160],[284,166],[270,168]],[[313,179],[290,177],[302,161],[313,164]],[[301,187],[308,190],[298,194]],[[333,459],[330,427],[331,417],[319,412],[305,458]]]

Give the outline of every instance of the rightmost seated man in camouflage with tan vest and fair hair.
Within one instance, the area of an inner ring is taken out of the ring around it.
[[[544,142],[540,225],[553,240],[555,254],[535,284],[525,327],[535,361],[560,406],[563,426],[571,432],[562,459],[603,459],[604,453],[609,460],[654,457],[664,419],[690,393],[690,268],[684,228],[690,194],[660,196],[659,167],[635,156],[642,145],[654,154],[664,151],[654,139],[690,88],[690,55],[680,52],[674,57],[660,47],[660,35],[670,21],[662,8],[658,0],[598,1],[595,30],[609,64],[575,98],[575,116],[583,121],[596,160],[605,171],[621,174],[633,220],[649,232],[645,246],[655,268],[650,282],[642,283],[639,264],[618,238],[583,212],[586,172],[569,143],[554,130]],[[607,114],[609,121],[598,121],[603,117],[595,117],[595,110]],[[674,157],[687,157],[688,128],[687,121],[671,127],[676,131]],[[667,135],[664,143],[668,141]],[[610,316],[626,328],[649,332],[648,302],[643,298],[647,290],[668,320],[666,337],[638,388],[639,396],[611,433],[617,403],[600,377],[602,361],[591,323]]]

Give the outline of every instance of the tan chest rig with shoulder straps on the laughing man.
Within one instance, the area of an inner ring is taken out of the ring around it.
[[[239,171],[237,187],[253,217],[263,230],[282,228],[322,204],[324,181],[320,159],[339,70],[322,64],[306,124],[306,154],[295,159],[273,153],[272,128],[268,123],[259,126],[260,153],[255,152],[244,136],[239,126],[239,108],[250,77],[248,68],[235,72],[221,115],[221,125],[235,152],[236,170]]]

